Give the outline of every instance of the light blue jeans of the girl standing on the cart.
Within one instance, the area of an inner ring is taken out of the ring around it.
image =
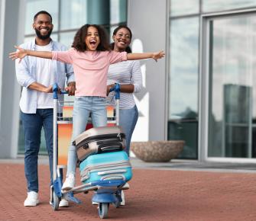
[[[73,140],[80,133],[86,130],[86,124],[91,113],[93,127],[103,127],[107,125],[107,111],[105,109],[105,98],[84,96],[76,97],[73,107],[73,133],[71,145],[67,156],[66,176],[76,172],[76,146],[73,146]]]

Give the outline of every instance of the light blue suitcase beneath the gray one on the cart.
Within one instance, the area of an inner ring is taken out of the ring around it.
[[[80,163],[79,171],[83,184],[108,180],[127,182],[132,177],[131,163],[125,151],[89,155]]]

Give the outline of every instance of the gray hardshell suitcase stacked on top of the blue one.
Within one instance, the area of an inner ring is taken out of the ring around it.
[[[125,149],[125,133],[122,127],[93,127],[73,141],[79,162],[96,153],[115,152]]]

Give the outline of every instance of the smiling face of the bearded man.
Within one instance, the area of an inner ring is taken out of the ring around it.
[[[50,16],[47,14],[38,14],[37,18],[34,20],[33,28],[39,39],[48,39],[53,30]]]

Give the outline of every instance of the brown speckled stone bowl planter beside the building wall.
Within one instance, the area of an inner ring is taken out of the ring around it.
[[[183,140],[132,142],[131,151],[144,162],[169,162],[183,151]]]

